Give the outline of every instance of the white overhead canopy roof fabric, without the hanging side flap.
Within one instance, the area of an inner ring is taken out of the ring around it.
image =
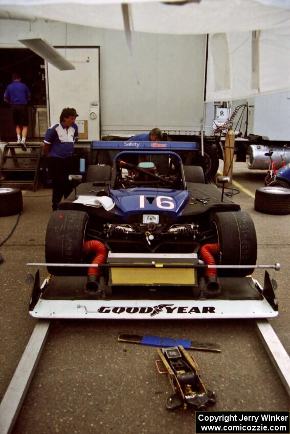
[[[65,4],[69,7],[65,8]],[[123,2],[124,3],[124,2]],[[283,0],[200,0],[176,6],[156,0],[127,0],[136,32],[205,34],[289,26]],[[123,30],[120,0],[0,0],[0,18],[48,19]],[[284,6],[284,7],[281,7]],[[65,13],[63,9],[65,8]]]

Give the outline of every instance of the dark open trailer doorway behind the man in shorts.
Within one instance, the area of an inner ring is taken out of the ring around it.
[[[31,92],[28,139],[40,139],[47,129],[44,59],[28,49],[0,49],[0,58],[0,138],[2,141],[15,140],[10,106],[4,102],[3,95],[12,82],[12,74],[18,73]]]

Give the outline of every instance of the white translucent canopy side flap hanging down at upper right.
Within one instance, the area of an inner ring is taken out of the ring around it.
[[[239,100],[290,90],[290,28],[229,32],[224,37],[229,57],[222,62],[228,65],[229,82],[224,74],[224,86],[220,86],[216,59],[219,50],[225,53],[225,39],[210,35],[206,101]]]

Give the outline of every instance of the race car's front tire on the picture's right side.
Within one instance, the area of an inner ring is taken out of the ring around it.
[[[257,261],[256,230],[247,212],[217,212],[213,215],[220,265],[255,265]],[[244,277],[254,269],[219,269],[219,276]]]

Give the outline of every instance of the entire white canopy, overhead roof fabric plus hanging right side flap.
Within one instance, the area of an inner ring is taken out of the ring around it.
[[[127,34],[209,34],[207,101],[290,90],[288,0],[128,0],[126,5],[127,20],[118,0],[0,0],[0,18],[116,30],[124,30],[125,23]]]

